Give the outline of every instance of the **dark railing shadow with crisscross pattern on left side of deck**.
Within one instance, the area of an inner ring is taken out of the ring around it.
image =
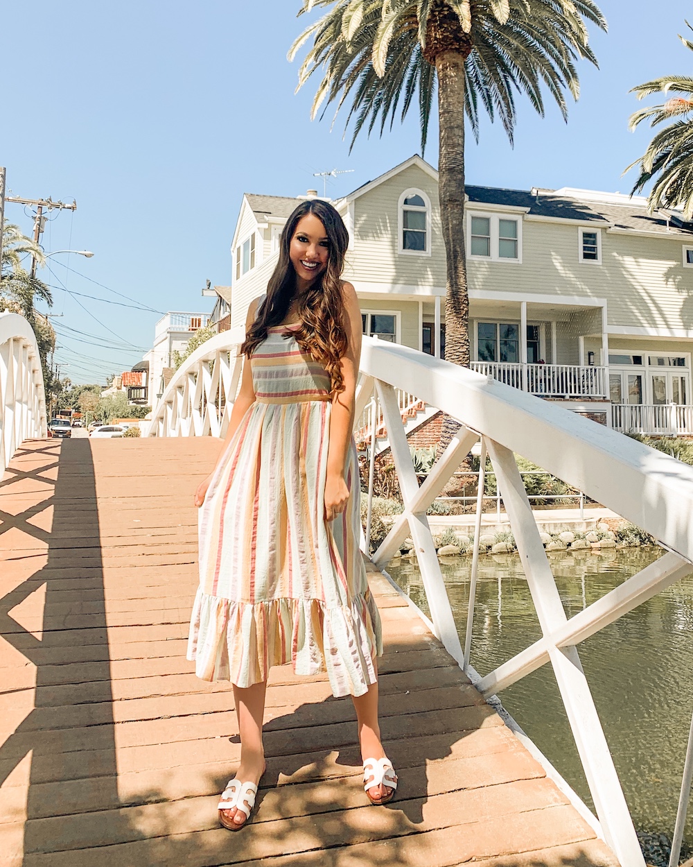
[[[23,470],[26,464],[29,471]],[[85,786],[98,786],[102,798],[118,798],[99,515],[88,440],[51,440],[40,447],[24,443],[0,483],[0,494],[8,495],[6,508],[0,499],[0,541],[5,534],[11,539],[3,577],[17,580],[0,600],[0,635],[36,666],[34,706],[0,746],[0,785],[30,753],[23,835],[23,864],[29,864],[34,853],[46,851],[40,820],[74,812],[71,802],[78,796],[83,802]],[[10,496],[22,511],[7,511]],[[50,530],[41,530],[32,518],[49,508]],[[42,565],[34,570],[32,561]],[[29,620],[25,628],[9,612],[29,603],[43,586],[42,616],[17,615]],[[85,663],[90,682],[82,686]],[[88,767],[81,758],[85,750],[94,751]],[[85,814],[83,821],[94,818]],[[53,842],[60,849],[68,840]]]

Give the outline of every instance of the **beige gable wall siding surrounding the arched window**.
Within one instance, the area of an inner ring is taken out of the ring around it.
[[[398,252],[399,198],[407,189],[431,201],[431,256]],[[409,166],[353,202],[353,249],[346,255],[344,276],[354,282],[445,285],[445,251],[435,179]]]

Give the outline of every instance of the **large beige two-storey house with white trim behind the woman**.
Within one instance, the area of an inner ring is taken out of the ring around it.
[[[622,430],[693,433],[693,226],[619,193],[468,186],[467,199],[472,368]],[[296,202],[243,197],[231,326],[266,289]],[[413,156],[334,205],[364,332],[444,355],[436,170]]]

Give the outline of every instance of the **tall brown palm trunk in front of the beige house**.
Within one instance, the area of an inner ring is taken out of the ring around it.
[[[445,244],[445,359],[470,365],[467,260],[464,250],[464,95],[466,56],[444,51],[436,57],[438,82],[438,197]],[[459,423],[446,415],[438,456],[450,444]]]

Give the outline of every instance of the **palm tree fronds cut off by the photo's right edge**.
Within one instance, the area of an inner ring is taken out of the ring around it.
[[[693,29],[688,25],[689,29]],[[687,49],[693,51],[693,42],[678,37]],[[654,81],[646,81],[632,88],[638,100],[652,94],[683,94],[671,96],[662,105],[641,108],[631,116],[630,127],[650,121],[651,127],[674,121],[664,127],[651,140],[649,147],[634,163],[640,167],[640,175],[631,192],[642,192],[644,186],[655,178],[649,196],[650,210],[657,208],[682,208],[686,219],[693,218],[693,78],[684,75],[666,75]]]

